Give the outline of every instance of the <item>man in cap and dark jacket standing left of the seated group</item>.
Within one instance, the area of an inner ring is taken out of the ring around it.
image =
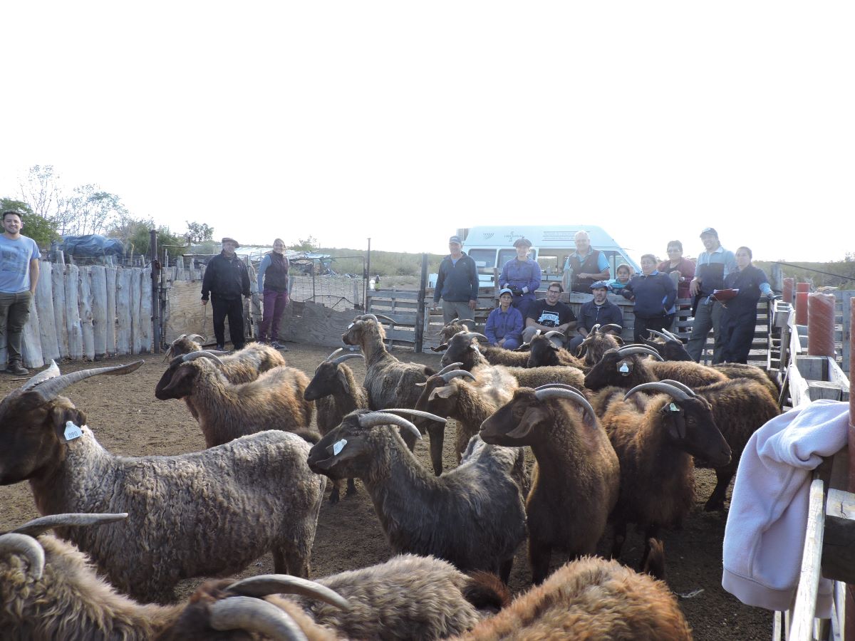
[[[451,253],[439,263],[433,309],[441,297],[445,325],[458,318],[473,330],[475,305],[478,303],[478,268],[475,261],[463,253],[463,240],[459,236],[448,239],[448,250]]]

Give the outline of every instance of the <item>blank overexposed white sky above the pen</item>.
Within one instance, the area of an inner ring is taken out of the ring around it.
[[[457,227],[855,250],[855,3],[4,3],[34,164],[174,232],[445,253]],[[25,229],[26,233],[26,229]]]

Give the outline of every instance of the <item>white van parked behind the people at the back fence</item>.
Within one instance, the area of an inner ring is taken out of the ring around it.
[[[463,238],[463,251],[475,260],[481,286],[493,285],[493,268],[501,270],[505,262],[516,256],[514,241],[524,236],[532,242],[528,256],[540,264],[543,273],[542,289],[550,280],[561,280],[564,261],[576,250],[575,233],[585,230],[591,236],[591,246],[602,251],[609,260],[611,278],[622,264],[632,266],[635,273],[641,268],[627,250],[624,250],[602,227],[593,225],[518,225],[480,226],[458,229]],[[431,286],[436,283],[436,274],[431,274]]]

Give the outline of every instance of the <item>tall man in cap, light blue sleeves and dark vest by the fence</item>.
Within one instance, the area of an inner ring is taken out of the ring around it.
[[[711,300],[710,296],[713,291],[724,288],[725,277],[736,268],[736,258],[734,252],[722,247],[718,241],[718,232],[712,227],[700,232],[700,240],[705,251],[698,256],[695,277],[689,283],[689,295],[694,297],[694,321],[686,351],[695,362],[700,362],[707,334],[712,328],[716,341],[712,351],[712,362],[715,365],[721,362],[724,349],[721,332],[724,309],[722,303]]]

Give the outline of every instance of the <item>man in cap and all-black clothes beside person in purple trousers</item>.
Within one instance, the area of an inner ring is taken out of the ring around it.
[[[234,349],[244,349],[244,303],[240,297],[250,297],[250,273],[234,253],[239,247],[234,238],[223,238],[222,251],[209,260],[202,279],[202,304],[207,305],[210,297],[217,350],[225,349],[227,316]]]

